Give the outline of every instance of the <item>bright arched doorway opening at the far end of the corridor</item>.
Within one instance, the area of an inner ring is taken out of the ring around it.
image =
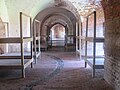
[[[49,49],[52,51],[65,50],[66,28],[62,24],[55,24],[49,31]]]

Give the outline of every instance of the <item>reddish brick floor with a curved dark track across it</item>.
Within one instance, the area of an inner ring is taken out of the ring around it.
[[[113,90],[103,74],[97,70],[92,78],[75,52],[42,52],[34,68],[26,69],[26,78],[19,70],[0,71],[0,90]]]

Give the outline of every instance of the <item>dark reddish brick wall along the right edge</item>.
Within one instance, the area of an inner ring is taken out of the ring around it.
[[[105,13],[105,80],[120,90],[120,0],[102,0]]]

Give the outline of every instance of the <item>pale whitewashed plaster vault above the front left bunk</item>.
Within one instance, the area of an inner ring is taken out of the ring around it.
[[[8,9],[10,30],[10,36],[19,36],[19,12],[31,15],[32,18],[39,13],[43,6],[52,0],[5,0],[5,4]]]

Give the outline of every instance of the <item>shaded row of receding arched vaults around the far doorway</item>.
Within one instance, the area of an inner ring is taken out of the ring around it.
[[[68,26],[68,34],[75,34],[75,24],[80,19],[80,16],[78,13],[75,13],[76,9],[73,5],[69,4],[70,2],[68,3],[66,0],[64,2],[64,4],[59,6],[53,5],[37,14],[36,19],[41,21],[41,34],[44,35],[46,33],[46,26],[51,27],[55,23],[62,24],[63,22]]]

